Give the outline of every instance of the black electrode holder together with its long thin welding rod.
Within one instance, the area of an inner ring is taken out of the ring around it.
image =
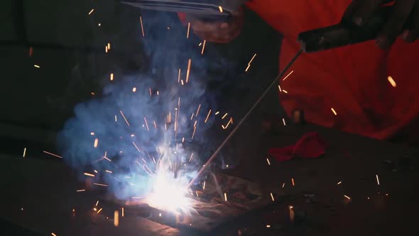
[[[205,165],[200,169],[197,173],[195,178],[190,181],[187,188],[190,188],[192,184],[197,180],[197,178],[205,171],[205,168],[209,166],[209,163],[217,156],[219,151],[227,144],[227,141],[234,135],[237,129],[243,124],[243,122],[249,117],[249,114],[253,112],[253,110],[261,103],[263,97],[271,90],[272,87],[276,87],[278,84],[278,80],[287,72],[291,65],[297,60],[297,58],[301,55],[301,53],[314,53],[321,50],[327,50],[331,48],[339,48],[344,45],[352,45],[355,43],[362,43],[364,41],[369,41],[375,39],[376,36],[383,28],[384,23],[386,23],[386,19],[391,14],[393,7],[386,6],[382,7],[376,14],[371,17],[369,23],[366,23],[364,26],[354,26],[352,23],[338,23],[333,26],[327,26],[325,28],[317,28],[311,31],[305,31],[298,35],[298,41],[301,43],[301,49],[298,51],[297,54],[290,60],[290,62],[285,65],[285,68],[281,70],[278,76],[271,82],[265,92],[259,97],[259,99],[255,102],[255,104],[249,109],[243,119],[239,122],[239,124],[234,127],[232,132],[227,136],[226,139],[222,142],[222,144],[214,151],[214,154],[208,159]]]

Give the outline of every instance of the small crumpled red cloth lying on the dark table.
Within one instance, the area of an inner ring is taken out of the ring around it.
[[[305,134],[295,145],[271,148],[268,154],[278,161],[288,161],[293,157],[317,158],[325,154],[327,144],[316,132]]]

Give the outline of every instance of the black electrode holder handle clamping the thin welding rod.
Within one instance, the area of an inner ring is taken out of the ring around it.
[[[381,7],[363,26],[341,22],[333,26],[305,31],[298,35],[298,41],[305,53],[369,41],[378,36],[391,11],[393,11],[393,6]]]

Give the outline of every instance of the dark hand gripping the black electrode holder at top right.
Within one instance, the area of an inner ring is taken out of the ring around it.
[[[388,48],[399,35],[409,43],[416,41],[419,38],[419,0],[353,0],[342,20],[362,26],[374,11],[392,2],[393,12],[376,38],[376,45]]]

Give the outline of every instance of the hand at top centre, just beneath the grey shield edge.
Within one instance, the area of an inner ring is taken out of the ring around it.
[[[233,13],[233,16],[228,21],[206,22],[193,18],[190,21],[190,26],[193,33],[202,38],[202,40],[205,39],[213,43],[228,43],[239,36],[243,23],[244,14],[241,9]]]

